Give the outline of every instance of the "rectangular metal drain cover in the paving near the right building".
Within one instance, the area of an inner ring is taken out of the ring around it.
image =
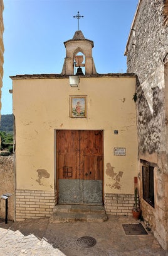
[[[123,224],[126,235],[148,235],[142,224]]]

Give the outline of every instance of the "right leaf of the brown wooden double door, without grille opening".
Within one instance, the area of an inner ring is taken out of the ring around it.
[[[81,131],[80,158],[82,161],[83,202],[102,203],[103,154],[102,131]]]

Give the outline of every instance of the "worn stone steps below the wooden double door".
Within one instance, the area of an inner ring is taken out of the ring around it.
[[[66,222],[103,222],[107,221],[107,215],[103,206],[81,206],[58,204],[53,209],[50,223]]]

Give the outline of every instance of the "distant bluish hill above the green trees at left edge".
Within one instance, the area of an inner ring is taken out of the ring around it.
[[[13,132],[13,114],[1,115],[0,131]]]

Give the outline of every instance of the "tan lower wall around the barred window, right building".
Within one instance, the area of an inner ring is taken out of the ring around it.
[[[141,156],[142,157],[142,156]],[[144,155],[148,161],[140,163],[139,185],[140,185],[140,206],[145,225],[153,232],[160,245],[167,248],[167,219],[168,219],[168,175],[159,168],[159,157],[157,154]],[[154,194],[155,206],[152,207],[143,199],[142,165],[153,165],[154,167]]]

